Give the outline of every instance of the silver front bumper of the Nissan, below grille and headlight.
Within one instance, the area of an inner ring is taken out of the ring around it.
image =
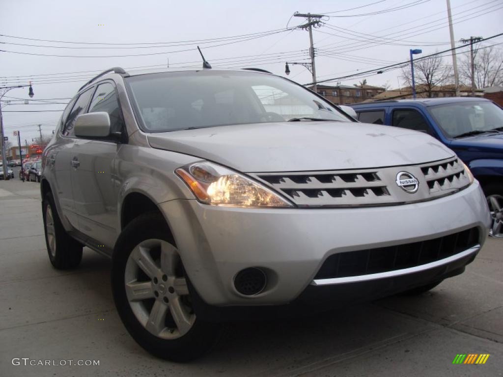
[[[246,209],[173,200],[159,207],[173,231],[192,285],[212,306],[291,303],[316,285],[348,283],[314,280],[323,261],[332,254],[418,242],[472,227],[478,228],[478,243],[482,245],[489,224],[478,182],[448,197],[401,206]],[[357,277],[351,283],[364,292],[363,286],[376,286],[386,278],[400,281],[434,270],[438,277],[440,272],[447,273],[445,266],[451,262],[456,262],[456,268],[464,267],[477,251],[478,247],[467,252],[466,258],[406,271],[401,277]],[[463,266],[458,265],[459,260],[465,261]],[[234,288],[234,276],[247,267],[261,267],[268,273],[268,285],[258,295],[244,296]],[[408,288],[410,285],[397,286],[395,282],[393,290]]]

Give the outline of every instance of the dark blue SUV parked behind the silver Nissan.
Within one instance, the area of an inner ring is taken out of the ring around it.
[[[358,120],[425,132],[466,163],[479,180],[492,217],[490,235],[503,237],[503,109],[478,98],[429,98],[352,105]]]

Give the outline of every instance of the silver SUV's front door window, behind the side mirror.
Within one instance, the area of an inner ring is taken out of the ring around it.
[[[124,128],[124,118],[117,98],[115,86],[111,82],[99,84],[93,101],[89,107],[90,113],[104,111],[110,116],[110,132],[121,132]]]

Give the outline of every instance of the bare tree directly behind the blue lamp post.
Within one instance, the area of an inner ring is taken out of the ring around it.
[[[444,65],[442,57],[434,55],[427,59],[414,62],[414,78],[416,88],[427,92],[428,97],[433,97],[433,88],[445,84],[452,77],[452,67]],[[402,67],[401,78],[406,85],[412,85],[410,66]],[[419,90],[418,90],[419,91]]]

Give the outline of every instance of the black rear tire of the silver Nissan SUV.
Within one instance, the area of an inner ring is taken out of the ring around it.
[[[50,235],[48,235],[48,207],[52,214],[53,240],[49,240]],[[42,217],[44,219],[45,244],[52,265],[57,269],[76,268],[82,260],[82,244],[66,233],[59,219],[51,192],[45,195],[42,203]],[[50,242],[54,246],[54,250]]]

